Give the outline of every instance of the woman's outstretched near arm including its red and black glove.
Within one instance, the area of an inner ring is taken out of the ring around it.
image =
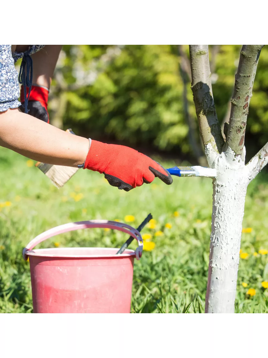
[[[91,141],[64,132],[39,119],[9,109],[0,113],[0,145],[47,164],[84,168],[103,173],[110,185],[129,191],[157,176],[166,184],[172,177],[166,169],[137,150]]]

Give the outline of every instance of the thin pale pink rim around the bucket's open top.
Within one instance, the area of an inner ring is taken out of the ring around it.
[[[53,257],[53,258],[120,258],[120,257],[132,257],[136,256],[136,251],[127,249],[124,251],[124,253],[121,253],[119,255],[111,254],[111,255],[64,255],[64,254],[49,254],[50,250],[81,250],[81,249],[94,249],[94,250],[116,250],[116,252],[119,250],[119,248],[116,247],[50,247],[50,248],[39,248],[27,251],[27,256],[38,256],[38,257]],[[48,251],[48,253],[38,253],[38,251]],[[128,252],[126,252],[128,251]]]

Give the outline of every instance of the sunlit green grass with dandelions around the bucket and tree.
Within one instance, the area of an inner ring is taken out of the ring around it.
[[[160,160],[160,159],[158,159]],[[0,149],[0,312],[32,311],[29,262],[22,258],[23,247],[39,233],[54,226],[87,219],[119,219],[133,215],[138,226],[148,213],[157,220],[152,234],[155,248],[144,251],[135,261],[132,312],[204,312],[207,285],[212,185],[208,178],[174,178],[167,186],[155,179],[151,185],[126,193],[110,185],[99,173],[79,170],[60,190],[27,159]],[[167,167],[174,163],[165,163]],[[261,175],[248,188],[242,234],[236,312],[268,312],[268,255],[254,256],[268,249],[267,177]],[[83,198],[75,197],[82,193]],[[78,201],[75,201],[76,200]],[[8,203],[6,203],[8,202]],[[10,206],[9,202],[11,203]],[[7,205],[6,205],[6,204]],[[173,213],[179,212],[178,217]],[[165,224],[172,228],[165,228]],[[154,236],[162,231],[162,236]],[[96,246],[120,247],[126,240],[120,232],[101,229],[79,230],[51,238],[39,247]],[[133,242],[131,248],[135,248]],[[242,282],[248,284],[242,286]],[[246,294],[249,288],[255,296]]]

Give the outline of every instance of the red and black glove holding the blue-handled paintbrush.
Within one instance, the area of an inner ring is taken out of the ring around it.
[[[156,176],[165,184],[173,182],[168,171],[148,156],[123,145],[96,140],[91,141],[84,169],[103,173],[110,185],[126,192],[152,183]]]

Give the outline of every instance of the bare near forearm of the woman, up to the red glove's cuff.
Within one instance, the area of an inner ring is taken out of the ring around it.
[[[47,164],[77,167],[83,164],[89,140],[16,109],[0,112],[0,145]]]

